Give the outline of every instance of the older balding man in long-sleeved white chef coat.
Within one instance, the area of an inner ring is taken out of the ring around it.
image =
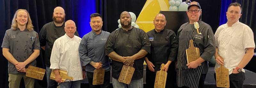
[[[64,29],[66,34],[56,39],[53,44],[50,69],[54,71],[55,81],[60,83],[60,88],[80,88],[80,80],[85,78],[78,53],[81,38],[74,35],[76,31],[74,21],[68,20]],[[68,76],[73,77],[73,80],[66,79],[63,82],[59,74],[60,69],[68,71]]]

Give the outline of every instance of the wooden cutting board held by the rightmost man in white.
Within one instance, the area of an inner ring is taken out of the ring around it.
[[[222,57],[220,57],[223,60]],[[229,73],[228,69],[223,65],[220,65],[219,68],[216,69],[216,85],[217,87],[229,88]]]

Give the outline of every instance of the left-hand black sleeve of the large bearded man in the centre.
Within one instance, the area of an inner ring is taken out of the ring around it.
[[[109,35],[108,40],[105,44],[105,53],[106,55],[108,55],[109,53],[114,51],[114,47],[113,47],[113,41],[114,41],[114,36],[113,36],[113,32]]]

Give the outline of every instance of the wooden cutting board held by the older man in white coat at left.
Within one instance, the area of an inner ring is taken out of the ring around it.
[[[60,77],[62,78],[62,82],[65,82],[66,79],[73,80],[73,77],[68,76],[68,71],[59,69],[59,74],[60,74]],[[55,80],[55,74],[54,74],[53,70],[52,70],[50,79]]]

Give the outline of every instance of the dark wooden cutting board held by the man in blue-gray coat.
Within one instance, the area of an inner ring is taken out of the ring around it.
[[[100,64],[102,64],[100,62]],[[105,69],[95,69],[93,72],[92,85],[101,85],[104,82]]]

